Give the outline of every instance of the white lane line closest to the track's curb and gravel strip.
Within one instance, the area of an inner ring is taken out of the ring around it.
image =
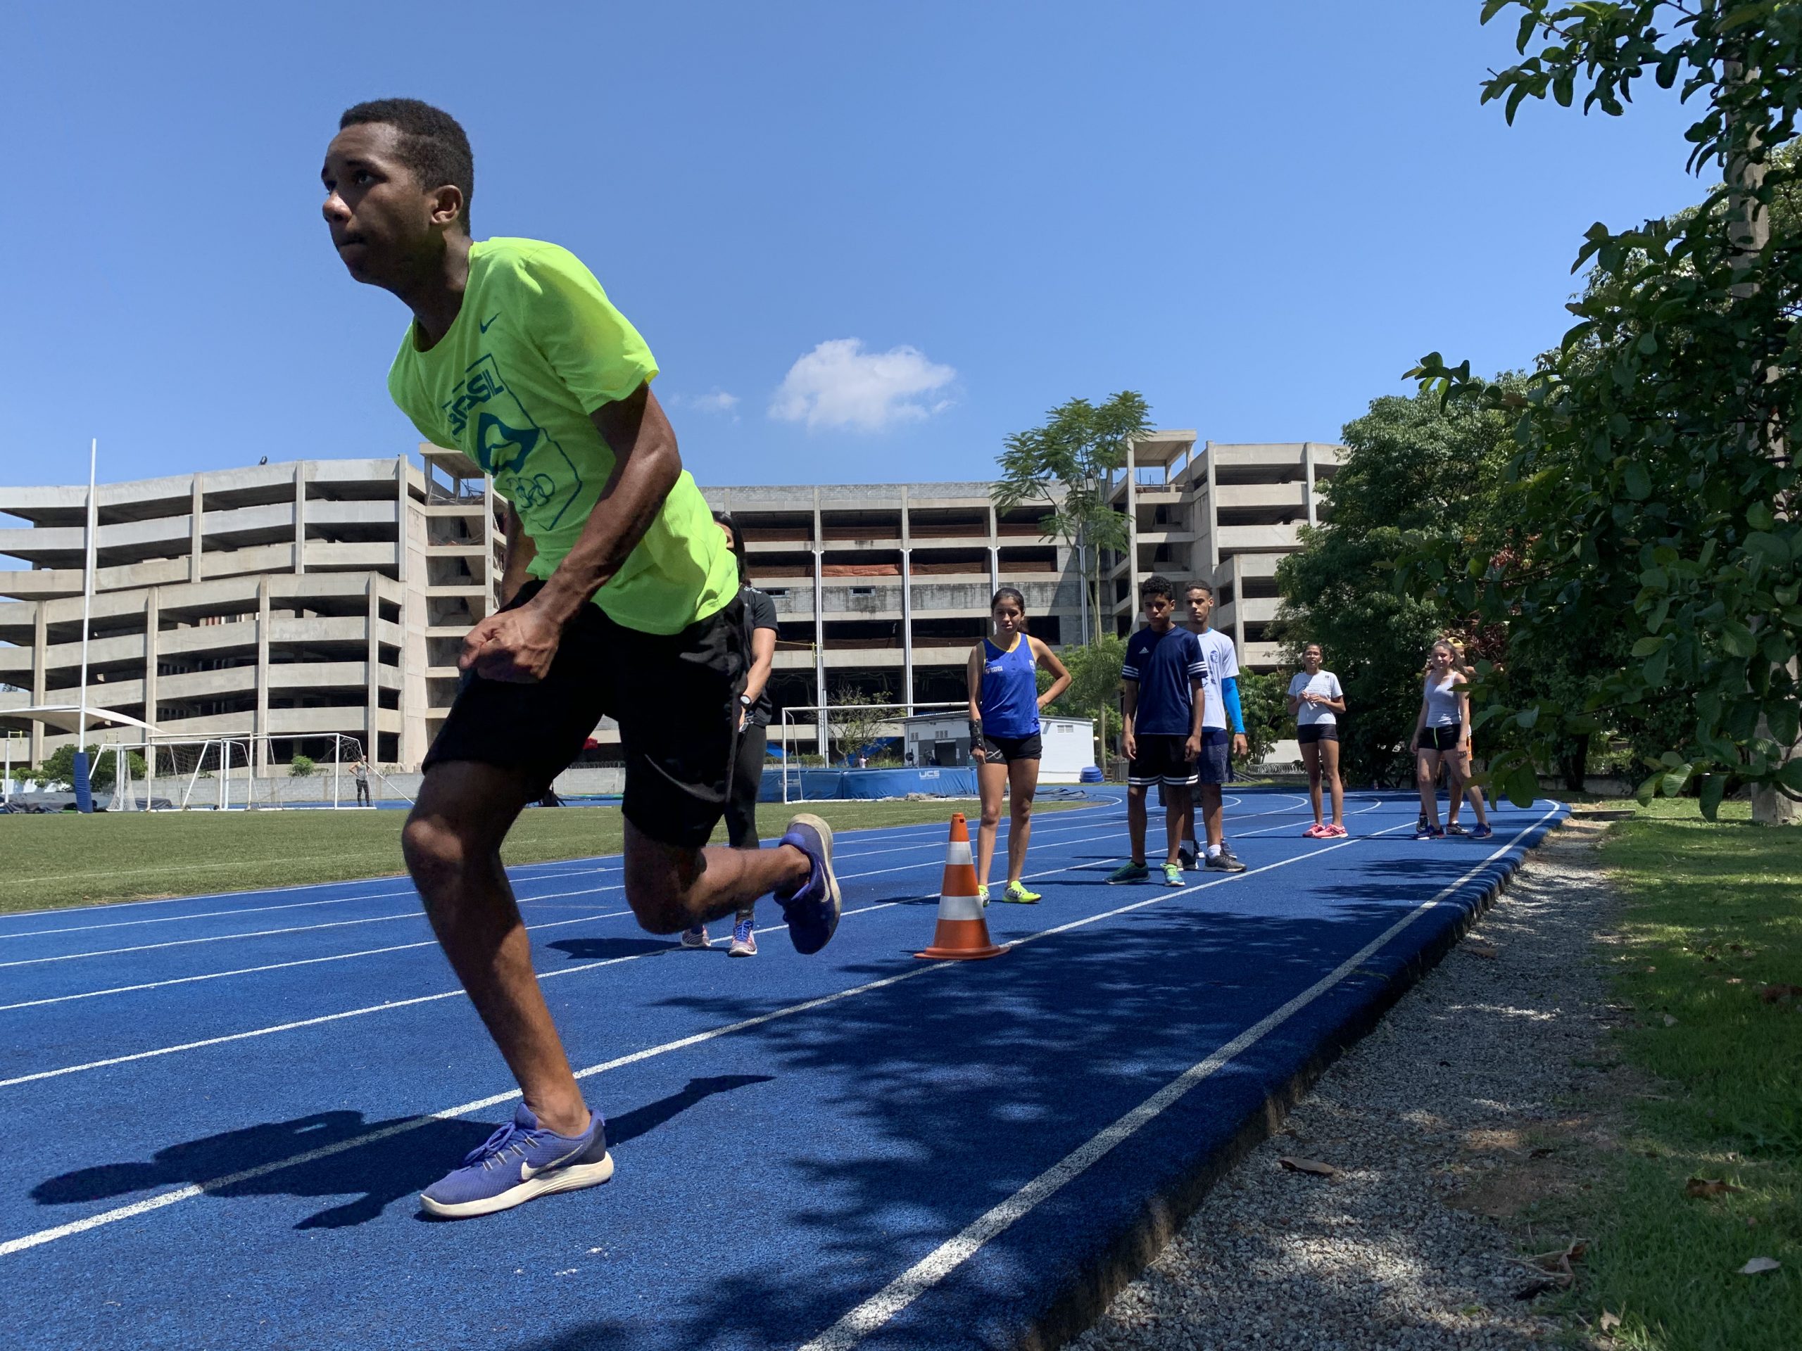
[[[1274,1032],[1278,1027],[1287,1023],[1297,1012],[1306,1009],[1317,998],[1332,991],[1339,982],[1350,976],[1357,967],[1370,960],[1375,953],[1382,951],[1391,938],[1395,938],[1402,929],[1420,919],[1424,913],[1442,904],[1447,897],[1454,895],[1458,888],[1476,877],[1483,868],[1499,859],[1503,854],[1512,850],[1528,832],[1543,825],[1546,820],[1557,814],[1557,807],[1541,816],[1532,825],[1519,830],[1514,839],[1497,848],[1494,854],[1485,857],[1481,863],[1465,872],[1463,877],[1454,881],[1451,886],[1438,892],[1431,901],[1420,902],[1415,910],[1407,911],[1384,929],[1380,935],[1371,938],[1364,948],[1348,957],[1330,973],[1321,976],[1317,982],[1301,991],[1288,1003],[1281,1005],[1274,1012],[1260,1018],[1256,1023],[1247,1027],[1236,1038],[1222,1045],[1211,1056],[1197,1061],[1188,1070],[1179,1074],[1168,1084],[1159,1088],[1139,1106],[1128,1111],[1124,1117],[1115,1120],[1106,1129],[1085,1140],[1081,1146],[1072,1149],[1069,1155],[1060,1158],[1049,1169],[1040,1173],[1020,1191],[1009,1196],[1000,1205],[978,1216],[975,1221],[966,1225],[959,1234],[941,1243],[930,1254],[921,1257],[914,1266],[905,1270],[879,1292],[870,1295],[870,1299],[858,1304],[843,1319],[834,1322],[824,1333],[815,1337],[811,1342],[800,1347],[800,1351],[851,1351],[858,1342],[861,1342],[870,1333],[883,1328],[897,1313],[901,1313],[908,1304],[924,1295],[928,1290],[944,1281],[951,1272],[955,1272],[962,1263],[969,1261],[977,1252],[982,1250],[986,1243],[998,1238],[1007,1230],[1009,1225],[1031,1214],[1033,1209],[1056,1196],[1065,1185],[1079,1178],[1090,1167],[1094,1167],[1103,1156],[1106,1156],[1115,1146],[1124,1144],[1150,1120],[1159,1117],[1168,1108],[1175,1106],[1191,1088],[1195,1088],[1204,1079],[1218,1074],[1222,1066],[1231,1063],[1234,1057],[1258,1045],[1265,1036]],[[1342,847],[1342,845],[1341,845]],[[1036,937],[1036,935],[1034,935]]]

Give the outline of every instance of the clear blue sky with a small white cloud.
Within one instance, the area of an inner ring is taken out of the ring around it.
[[[1669,99],[1478,83],[1478,0],[29,5],[0,481],[387,456],[405,326],[319,216],[350,103],[443,104],[478,238],[568,245],[649,339],[703,483],[982,479],[1139,389],[1332,440],[1427,349],[1524,364],[1570,261],[1701,196]],[[1281,14],[1281,20],[1272,20]]]

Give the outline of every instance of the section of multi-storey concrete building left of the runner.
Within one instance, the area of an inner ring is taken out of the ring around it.
[[[88,490],[0,488],[0,513],[27,522],[0,526],[0,555],[27,564],[0,571],[0,726],[41,764],[72,737],[23,710],[81,699]],[[324,758],[341,733],[416,766],[499,548],[454,450],[103,483],[86,704],[164,739],[241,737],[265,762]]]

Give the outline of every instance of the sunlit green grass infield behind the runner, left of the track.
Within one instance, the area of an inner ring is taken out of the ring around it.
[[[1042,802],[1040,812],[1076,807]],[[757,829],[782,834],[787,807],[764,803]],[[836,830],[950,821],[975,802],[807,803]],[[337,883],[402,870],[398,811],[141,812],[0,816],[0,911],[148,901],[196,892]],[[724,829],[717,832],[724,843]],[[530,809],[506,839],[508,863],[620,850],[616,807]]]

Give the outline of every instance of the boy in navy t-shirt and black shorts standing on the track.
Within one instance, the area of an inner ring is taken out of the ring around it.
[[[1132,832],[1132,863],[1115,868],[1110,883],[1142,883],[1151,875],[1144,861],[1144,794],[1164,785],[1164,884],[1182,886],[1182,823],[1189,811],[1189,787],[1197,782],[1202,753],[1202,688],[1207,661],[1202,645],[1171,620],[1177,593],[1168,576],[1153,573],[1139,587],[1146,627],[1126,639],[1121,665],[1121,713],[1126,758],[1126,827]]]

